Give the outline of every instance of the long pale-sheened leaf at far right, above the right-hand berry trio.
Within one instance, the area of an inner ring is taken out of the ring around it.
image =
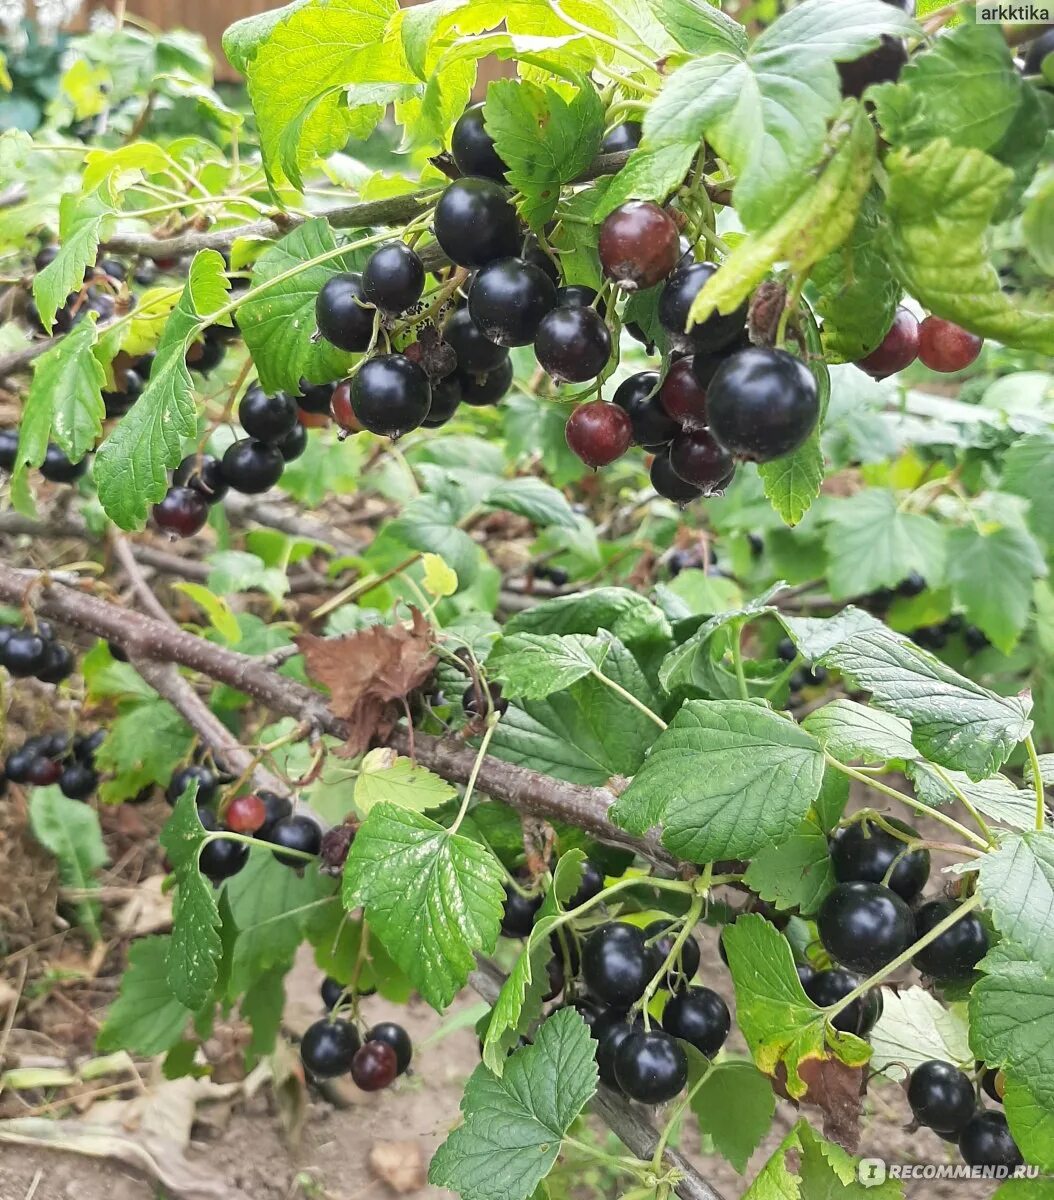
[[[998,770],[1032,727],[1031,701],[998,696],[888,630],[852,636],[822,658],[872,703],[911,722],[932,762],[980,780]]]

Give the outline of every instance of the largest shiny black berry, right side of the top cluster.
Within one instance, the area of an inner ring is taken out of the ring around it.
[[[718,368],[706,394],[711,433],[730,452],[755,462],[790,454],[820,416],[816,380],[786,350],[753,347]]]

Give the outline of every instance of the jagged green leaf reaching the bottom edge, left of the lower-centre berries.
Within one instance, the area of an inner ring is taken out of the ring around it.
[[[462,1200],[527,1200],[597,1091],[595,1043],[573,1008],[551,1016],[501,1079],[480,1064],[465,1088],[465,1123],[436,1151],[435,1187]]]

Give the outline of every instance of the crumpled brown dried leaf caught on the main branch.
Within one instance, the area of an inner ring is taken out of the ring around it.
[[[413,611],[413,624],[373,625],[345,637],[301,634],[297,646],[307,673],[329,688],[331,712],[348,722],[346,755],[385,737],[402,713],[401,701],[436,666],[432,628]]]

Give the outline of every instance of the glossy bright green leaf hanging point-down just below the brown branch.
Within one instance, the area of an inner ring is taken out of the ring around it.
[[[345,907],[365,908],[370,929],[437,1010],[465,985],[473,952],[495,948],[504,895],[489,850],[394,804],[366,817],[345,866]]]

